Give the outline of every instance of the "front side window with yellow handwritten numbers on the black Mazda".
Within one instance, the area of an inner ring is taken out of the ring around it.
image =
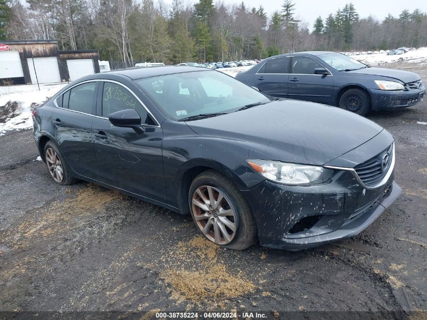
[[[148,118],[147,110],[128,89],[117,83],[104,82],[102,116],[108,117],[113,112],[126,109],[134,109],[141,117],[142,123],[154,124]]]

